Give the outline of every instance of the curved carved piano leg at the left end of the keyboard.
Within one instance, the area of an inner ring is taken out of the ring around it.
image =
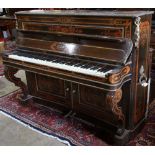
[[[32,97],[28,95],[28,88],[26,84],[22,82],[20,78],[17,78],[14,76],[14,74],[16,74],[17,72],[18,72],[17,68],[13,68],[10,66],[5,66],[4,68],[4,74],[6,79],[13,82],[15,86],[18,86],[21,88],[22,94],[20,95],[19,100],[22,104],[25,104],[30,102]]]

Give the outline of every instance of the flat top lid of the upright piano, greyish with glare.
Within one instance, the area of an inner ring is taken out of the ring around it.
[[[116,16],[139,17],[153,14],[154,11],[92,11],[92,10],[29,10],[16,12],[16,15],[46,15],[46,16]]]

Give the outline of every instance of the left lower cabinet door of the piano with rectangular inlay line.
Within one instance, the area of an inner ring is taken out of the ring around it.
[[[27,72],[28,89],[32,96],[70,108],[71,85],[69,82],[40,74]],[[51,106],[52,106],[51,103]]]

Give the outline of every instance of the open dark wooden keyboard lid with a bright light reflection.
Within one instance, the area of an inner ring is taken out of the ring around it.
[[[100,61],[125,64],[132,51],[133,43],[130,39],[116,39],[106,37],[79,37],[78,42],[69,42],[62,39],[40,40],[39,38],[17,38],[17,46],[44,50],[48,52],[62,53],[68,56],[91,58]],[[67,41],[68,40],[68,41]],[[65,42],[66,41],[66,42]]]

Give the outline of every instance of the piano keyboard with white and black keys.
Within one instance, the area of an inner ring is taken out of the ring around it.
[[[44,56],[32,53],[28,54],[24,52],[16,52],[14,54],[10,54],[8,57],[14,60],[20,60],[24,62],[44,65],[48,67],[82,73],[101,78],[104,78],[108,73],[112,72],[111,66],[91,62],[89,63],[81,60],[73,60],[70,58],[56,57],[51,55]]]

